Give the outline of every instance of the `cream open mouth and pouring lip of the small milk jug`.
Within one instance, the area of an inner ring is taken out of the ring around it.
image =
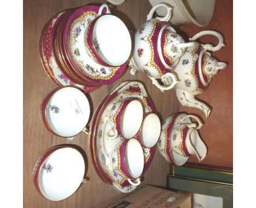
[[[186,145],[189,154],[195,155],[199,162],[201,162],[206,157],[206,145],[203,143],[196,129],[190,129],[189,138],[186,139]]]

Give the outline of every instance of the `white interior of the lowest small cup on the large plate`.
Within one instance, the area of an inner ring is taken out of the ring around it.
[[[130,139],[125,148],[125,165],[132,176],[137,179],[141,176],[144,167],[144,154],[137,139]]]

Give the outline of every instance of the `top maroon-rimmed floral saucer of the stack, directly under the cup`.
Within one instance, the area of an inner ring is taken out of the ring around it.
[[[64,48],[69,62],[77,72],[95,84],[110,84],[123,75],[127,63],[117,68],[97,64],[85,50],[84,33],[86,27],[98,16],[100,7],[88,5],[75,10],[69,17],[64,30]]]

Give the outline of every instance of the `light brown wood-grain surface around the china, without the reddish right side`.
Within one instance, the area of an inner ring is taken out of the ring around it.
[[[107,185],[94,172],[90,163],[88,150],[88,137],[85,133],[75,136],[70,141],[65,138],[54,136],[49,133],[40,121],[40,104],[44,97],[57,86],[51,82],[45,74],[39,59],[39,38],[45,23],[55,14],[68,8],[76,8],[94,1],[81,0],[26,0],[24,1],[24,207],[37,208],[66,208],[66,207],[97,207],[97,205],[120,195],[111,186]],[[106,1],[97,1],[105,3]],[[113,6],[112,13],[123,20],[131,30],[136,30],[146,21],[146,15],[151,9],[147,0],[133,1],[127,0],[118,7]],[[174,95],[174,91],[161,93],[154,87],[146,75],[138,72],[136,76],[131,76],[129,71],[118,79],[118,81],[105,85],[100,89],[90,93],[93,109],[106,96],[111,89],[121,81],[133,79],[140,80],[147,88],[148,94],[152,97],[156,109],[162,118],[178,112],[179,103]],[[88,158],[86,167],[87,177],[90,179],[83,184],[77,192],[63,201],[49,201],[37,193],[32,182],[32,168],[37,157],[46,149],[59,144],[79,145]],[[170,172],[170,165],[156,151],[155,157],[146,174],[145,183],[166,186],[166,175]]]

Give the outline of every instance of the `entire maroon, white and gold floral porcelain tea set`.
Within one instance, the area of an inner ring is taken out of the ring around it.
[[[153,18],[159,8],[165,8],[166,15]],[[185,42],[170,25],[172,9],[165,3],[155,5],[131,37],[107,4],[85,5],[55,15],[40,36],[43,68],[59,86],[42,102],[44,126],[69,139],[80,132],[89,134],[90,161],[96,174],[122,193],[133,191],[141,183],[156,148],[176,166],[185,164],[191,155],[201,162],[207,154],[198,132],[202,121],[196,115],[179,112],[161,123],[139,81],[118,84],[96,108],[90,128],[86,127],[91,107],[85,93],[116,81],[128,67],[132,75],[142,71],[161,91],[174,89],[182,105],[199,108],[208,117],[210,107],[197,101],[195,95],[206,90],[212,77],[226,66],[209,52],[224,46],[223,37],[204,30]],[[202,35],[216,36],[218,45],[195,42]],[[74,163],[74,171],[65,179],[66,174],[58,178],[66,160]],[[33,181],[46,199],[62,200],[86,182],[84,173],[80,152],[60,145],[39,157]],[[68,180],[68,186],[62,187],[61,180]]]

